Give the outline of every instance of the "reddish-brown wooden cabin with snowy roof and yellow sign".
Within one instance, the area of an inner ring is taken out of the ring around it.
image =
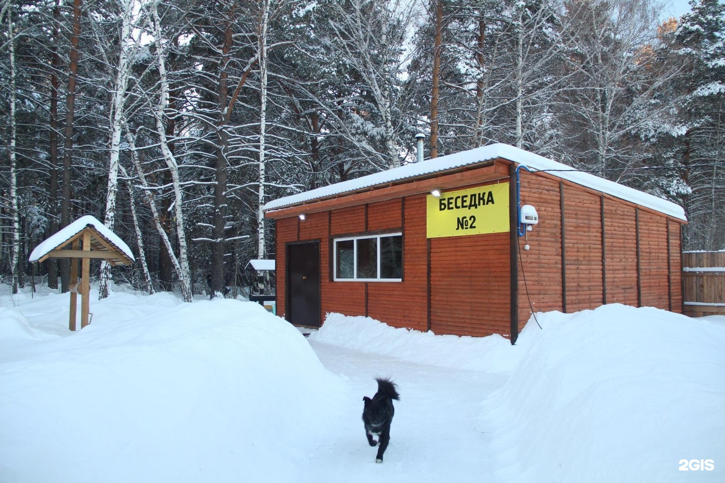
[[[680,206],[505,144],[270,201],[278,314],[515,343],[532,311],[682,312]]]

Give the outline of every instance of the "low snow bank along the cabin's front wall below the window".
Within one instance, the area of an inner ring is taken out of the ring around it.
[[[418,364],[471,371],[512,371],[523,353],[500,335],[459,337],[398,329],[370,317],[327,314],[316,342],[394,356]]]

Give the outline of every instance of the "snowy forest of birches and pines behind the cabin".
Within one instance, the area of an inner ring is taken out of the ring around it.
[[[67,290],[28,256],[91,214],[137,262],[94,263],[101,296],[221,293],[276,256],[264,203],[415,162],[417,133],[668,198],[685,249],[725,249],[725,4],[690,3],[2,0],[0,274]]]

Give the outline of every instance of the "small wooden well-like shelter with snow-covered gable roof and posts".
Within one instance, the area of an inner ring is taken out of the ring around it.
[[[82,244],[82,247],[81,247]],[[70,249],[63,248],[70,245]],[[68,328],[76,329],[75,312],[80,293],[80,328],[88,325],[91,292],[91,259],[102,259],[112,265],[130,265],[133,254],[128,245],[94,217],[81,217],[51,236],[33,250],[30,261],[46,259],[70,259],[70,316]],[[80,282],[78,260],[80,259]],[[79,286],[80,285],[80,286]]]

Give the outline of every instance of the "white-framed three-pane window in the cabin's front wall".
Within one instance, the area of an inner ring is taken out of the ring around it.
[[[401,282],[403,276],[402,233],[335,238],[334,280],[356,282]]]

